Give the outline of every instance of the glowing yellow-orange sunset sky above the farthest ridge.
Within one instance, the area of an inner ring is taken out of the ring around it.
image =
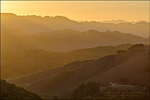
[[[146,20],[149,1],[2,1],[2,13],[66,16],[77,21]]]

